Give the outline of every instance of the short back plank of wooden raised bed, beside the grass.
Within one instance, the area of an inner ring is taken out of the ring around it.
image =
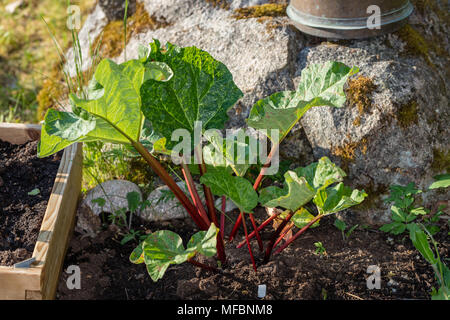
[[[41,126],[38,124],[21,124],[0,122],[0,139],[13,144],[24,144],[38,140]]]

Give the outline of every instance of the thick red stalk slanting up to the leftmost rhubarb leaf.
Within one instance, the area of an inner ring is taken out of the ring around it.
[[[176,184],[175,180],[167,173],[167,171],[162,167],[158,160],[156,160],[150,152],[137,141],[130,140],[133,147],[137,152],[141,154],[144,160],[150,165],[154,172],[164,181],[164,183],[169,187],[169,189],[173,192],[175,197],[180,201],[186,211],[189,213],[191,218],[194,220],[195,224],[201,230],[207,230],[208,225],[203,221],[203,219],[199,216],[197,209],[194,207],[192,202],[188,199],[188,197],[184,194],[181,188]]]

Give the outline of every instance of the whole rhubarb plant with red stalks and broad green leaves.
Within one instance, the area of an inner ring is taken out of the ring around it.
[[[256,180],[249,181],[245,174],[257,153],[255,138],[238,139],[243,135],[243,130],[238,130],[235,137],[221,139],[219,131],[225,127],[229,109],[243,96],[231,72],[196,47],[180,48],[170,43],[162,47],[155,40],[149,47],[139,48],[138,59],[121,64],[109,59],[101,61],[87,89],[88,98],[70,95],[71,111],[49,110],[38,155],[51,155],[76,142],[103,141],[123,144],[142,156],[201,230],[187,248],[178,235],[167,230],[157,231],[139,244],[130,260],[145,263],[154,281],[163,276],[170,264],[185,261],[215,270],[195,261],[196,254],[217,254],[222,265],[226,263],[224,209],[219,223],[214,196],[221,197],[222,208],[227,199],[239,208],[230,240],[242,224],[256,270],[250,239],[256,236],[263,250],[259,231],[274,219],[258,226],[253,217],[258,204],[287,210],[281,215],[283,227],[280,229],[280,225],[275,231],[265,251],[267,261],[288,223],[302,233],[317,226],[322,217],[359,204],[366,196],[363,191],[344,186],[345,173],[328,158],[287,171],[284,188],[268,186],[260,190],[280,143],[294,125],[312,107],[342,107],[344,85],[357,71],[356,67],[339,62],[311,65],[303,70],[296,91],[275,93],[253,106],[247,123],[269,138],[271,149]],[[198,134],[208,143],[205,148]],[[189,139],[182,141],[186,143],[180,148],[179,138],[186,136]],[[244,154],[244,159],[236,156],[235,149],[244,151],[238,152]],[[158,154],[170,155],[181,166],[189,196],[161,165]],[[190,163],[192,159],[196,165]],[[199,175],[203,185],[205,203],[195,187],[195,175]],[[304,207],[310,202],[317,207],[316,215]],[[246,215],[252,223],[252,233],[247,230]],[[216,226],[220,226],[220,232]],[[296,237],[297,234],[289,241]]]

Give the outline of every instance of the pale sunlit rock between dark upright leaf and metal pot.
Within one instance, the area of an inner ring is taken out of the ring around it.
[[[253,104],[277,91],[294,89],[296,54],[301,48],[298,33],[287,25],[288,18],[258,22],[258,19],[236,20],[232,12],[216,8],[206,1],[145,1],[155,17],[163,16],[172,25],[146,31],[130,39],[127,58],[136,58],[139,44],[159,39],[179,46],[197,46],[223,62],[231,71],[245,96],[230,111],[228,128],[245,126]],[[278,27],[271,28],[270,25]],[[115,59],[124,60],[124,54]]]

